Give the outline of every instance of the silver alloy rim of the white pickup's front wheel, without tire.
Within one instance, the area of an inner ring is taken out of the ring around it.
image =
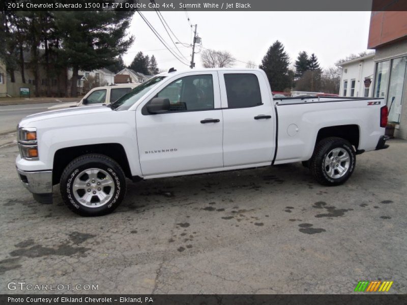
[[[81,171],[73,181],[73,195],[82,205],[99,207],[108,202],[114,194],[112,176],[100,168]]]

